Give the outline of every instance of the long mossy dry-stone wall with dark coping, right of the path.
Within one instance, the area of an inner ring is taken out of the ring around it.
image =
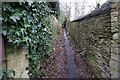
[[[119,11],[113,2],[67,23],[67,31],[98,78],[118,78]]]

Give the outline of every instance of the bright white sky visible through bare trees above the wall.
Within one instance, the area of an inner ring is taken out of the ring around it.
[[[94,10],[94,7],[96,6],[96,3],[99,2],[101,5],[104,4],[107,0],[59,0],[60,2],[60,6],[62,6],[62,8],[64,8],[66,5],[64,3],[69,3],[71,2],[71,4],[69,6],[71,7],[71,17],[70,20],[74,20],[75,19],[75,6],[74,6],[74,2],[76,3],[80,3],[79,6],[82,6],[82,3],[86,1],[86,7],[84,9],[84,14],[79,14],[78,17],[83,16],[83,15],[87,15],[89,14],[92,10]]]

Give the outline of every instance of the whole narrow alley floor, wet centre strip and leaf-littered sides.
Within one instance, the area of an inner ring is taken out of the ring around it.
[[[79,56],[78,48],[66,30],[62,28],[54,42],[54,52],[43,65],[45,73],[40,76],[51,78],[94,78],[93,72]],[[51,67],[50,67],[51,66]],[[48,71],[46,73],[46,71]]]

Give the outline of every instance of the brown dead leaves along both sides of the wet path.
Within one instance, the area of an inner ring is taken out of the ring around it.
[[[67,67],[67,55],[65,50],[65,39],[62,33],[58,35],[57,40],[54,42],[54,51],[47,60],[43,60],[40,66],[40,74],[38,78],[69,78],[68,67]],[[86,62],[83,60],[83,56],[80,55],[80,50],[76,47],[74,41],[67,34],[70,40],[70,45],[75,51],[74,64],[79,71],[80,78],[94,78],[93,72],[88,68]]]

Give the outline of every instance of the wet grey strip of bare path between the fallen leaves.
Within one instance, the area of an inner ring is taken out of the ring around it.
[[[64,29],[64,39],[65,39],[65,49],[66,49],[66,58],[67,58],[67,66],[69,72],[69,78],[79,78],[79,74],[77,72],[77,68],[74,65],[74,50],[72,46],[70,46],[70,40],[67,37],[66,30]]]

